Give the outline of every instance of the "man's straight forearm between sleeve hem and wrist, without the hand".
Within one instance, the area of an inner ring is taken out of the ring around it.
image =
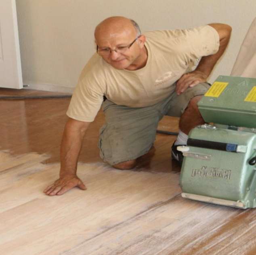
[[[68,120],[61,141],[61,170],[60,177],[76,175],[78,157],[82,147],[82,140],[90,122]]]

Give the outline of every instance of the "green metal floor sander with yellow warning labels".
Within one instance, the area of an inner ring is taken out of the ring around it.
[[[219,76],[198,103],[180,174],[182,197],[256,207],[256,79]],[[214,123],[214,124],[211,124]]]

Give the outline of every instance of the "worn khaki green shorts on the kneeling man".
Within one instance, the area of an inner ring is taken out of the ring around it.
[[[106,123],[99,140],[101,158],[113,166],[144,155],[155,141],[159,120],[165,115],[180,117],[191,98],[204,95],[209,88],[208,83],[200,83],[181,95],[174,91],[162,102],[143,108],[119,106],[105,100],[102,107]]]

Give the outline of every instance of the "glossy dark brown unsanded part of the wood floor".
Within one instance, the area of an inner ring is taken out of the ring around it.
[[[0,89],[0,95],[63,95],[61,93]],[[69,98],[0,100],[1,133],[0,146],[2,150],[10,150],[13,155],[29,152],[46,153],[50,158],[46,163],[59,161],[59,145],[65,122]],[[102,111],[90,125],[84,139],[80,154],[80,162],[99,162],[98,139],[99,129],[105,121]],[[165,117],[159,124],[159,129],[178,131],[178,118]],[[171,169],[179,170],[176,162],[170,160],[170,146],[174,136],[157,134],[155,146],[138,161],[138,169],[147,166],[149,170],[161,168],[163,172]],[[168,148],[168,149],[166,149]],[[173,166],[172,166],[173,164]]]

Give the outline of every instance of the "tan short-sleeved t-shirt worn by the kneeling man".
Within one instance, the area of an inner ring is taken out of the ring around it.
[[[145,46],[147,64],[139,70],[118,70],[94,54],[84,67],[67,116],[92,122],[103,102],[145,107],[164,100],[173,85],[201,58],[218,52],[219,36],[210,26],[186,30],[149,31]]]

